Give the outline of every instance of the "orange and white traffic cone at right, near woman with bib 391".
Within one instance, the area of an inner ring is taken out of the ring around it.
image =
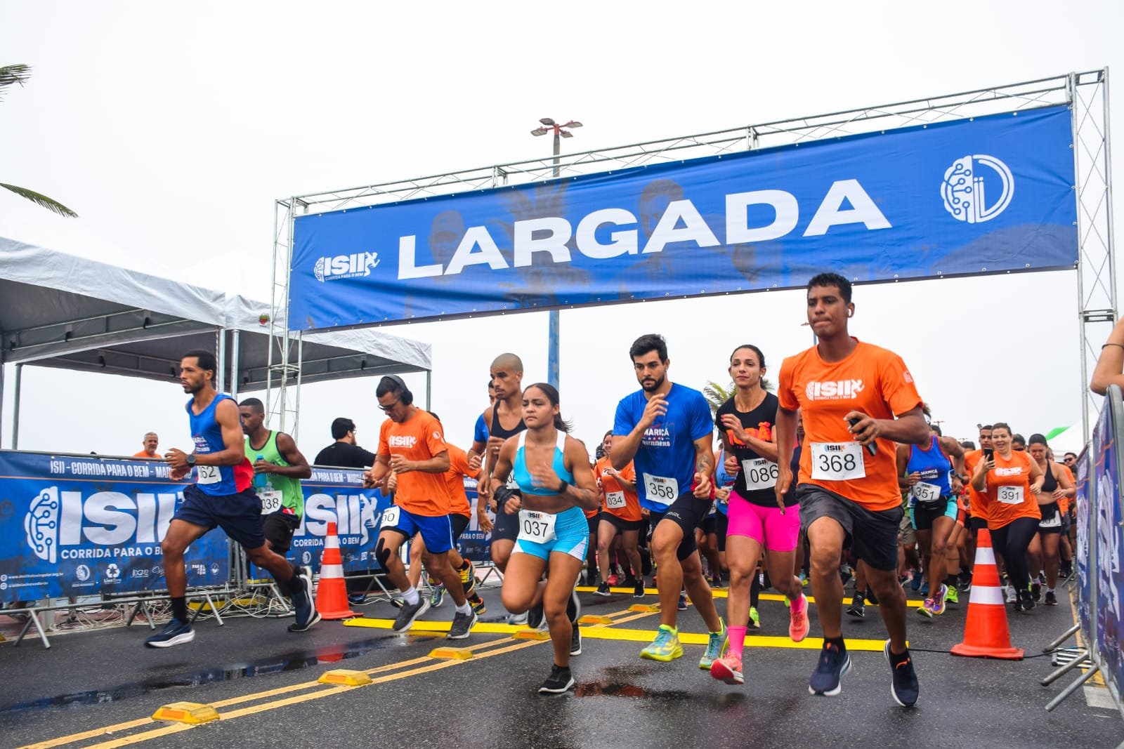
[[[999,587],[999,570],[995,566],[991,533],[987,528],[981,528],[976,539],[976,566],[972,569],[972,592],[968,600],[964,641],[952,648],[952,655],[1023,659],[1023,651],[1010,647],[1007,609],[1003,588]]]

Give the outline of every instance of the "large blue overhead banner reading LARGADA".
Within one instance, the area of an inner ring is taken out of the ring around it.
[[[298,217],[289,327],[1071,268],[1064,107]]]

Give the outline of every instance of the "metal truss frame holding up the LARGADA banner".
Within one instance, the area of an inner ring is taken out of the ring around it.
[[[329,190],[277,201],[273,238],[272,326],[288,319],[289,268],[292,254],[293,219],[348,208],[362,208],[402,200],[463,193],[473,190],[526,184],[561,177],[611,173],[615,170],[664,164],[704,156],[773,146],[799,145],[862,133],[904,127],[925,127],[934,122],[969,119],[986,115],[1069,104],[1073,112],[1073,149],[1078,200],[1078,321],[1081,340],[1082,390],[1099,354],[1097,341],[1107,335],[1116,317],[1116,281],[1113,254],[1112,179],[1108,139],[1108,68],[1068,73],[1025,81],[913,99],[878,107],[863,107],[814,117],[798,117],[725,130],[649,140],[613,148],[601,148],[559,157],[549,156],[508,164],[430,174],[343,190]],[[271,365],[270,391],[278,392],[277,403],[285,408],[287,383],[299,382],[299,366],[289,362],[289,336],[274,332],[280,342],[277,364]],[[298,339],[299,340],[299,339]],[[274,384],[275,383],[275,384]],[[1082,418],[1088,438],[1088,414],[1097,412],[1099,399],[1082,400]],[[274,409],[275,410],[275,409]]]

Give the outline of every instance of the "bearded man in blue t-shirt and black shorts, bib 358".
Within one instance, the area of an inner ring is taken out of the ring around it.
[[[633,462],[636,495],[652,521],[652,552],[659,570],[660,630],[641,657],[667,663],[683,655],[679,643],[679,592],[683,586],[710,631],[699,668],[726,646],[726,625],[714,606],[695,546],[695,527],[714,502],[714,422],[703,393],[668,380],[668,345],[663,336],[641,336],[628,355],[641,390],[617,405],[613,424],[613,467]]]

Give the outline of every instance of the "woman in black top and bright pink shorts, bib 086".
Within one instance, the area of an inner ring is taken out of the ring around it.
[[[777,506],[777,396],[765,392],[761,378],[765,357],[756,346],[744,345],[729,356],[734,396],[715,414],[726,455],[726,471],[734,473],[729,493],[729,529],[726,531],[726,561],[729,565],[729,651],[710,666],[710,675],[726,684],[744,684],[742,650],[750,620],[750,586],[761,552],[773,586],[788,596],[788,636],[799,642],[808,634],[808,600],[804,596],[796,567],[796,545],[800,535],[800,512],[796,497]],[[795,492],[792,493],[795,495]]]

